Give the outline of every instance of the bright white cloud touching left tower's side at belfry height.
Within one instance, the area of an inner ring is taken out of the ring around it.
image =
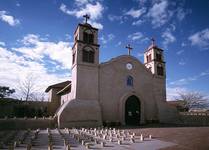
[[[48,56],[61,63],[63,68],[70,69],[72,56],[69,42],[48,42],[34,34],[28,34],[21,41],[24,46],[13,48],[13,50],[22,53],[25,58],[43,61],[43,58]]]

